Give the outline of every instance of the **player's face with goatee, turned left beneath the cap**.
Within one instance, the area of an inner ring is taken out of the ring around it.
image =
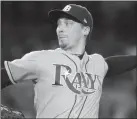
[[[59,46],[63,49],[75,47],[83,37],[83,27],[80,23],[68,18],[60,18],[57,21],[57,37]]]

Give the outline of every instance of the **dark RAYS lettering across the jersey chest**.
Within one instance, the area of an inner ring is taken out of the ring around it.
[[[72,76],[72,69],[67,65],[54,64],[55,68],[55,83],[53,85],[63,86],[61,77],[65,80],[68,88],[77,94],[92,94],[95,90],[100,90],[101,82],[98,75],[93,75],[87,72],[76,72]],[[61,70],[65,69],[61,74]]]

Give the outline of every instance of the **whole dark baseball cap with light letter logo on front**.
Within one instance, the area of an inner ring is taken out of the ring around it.
[[[57,20],[63,15],[75,19],[85,26],[93,27],[93,18],[91,13],[87,10],[87,8],[81,5],[69,4],[62,10],[54,9],[48,13],[49,18],[56,23]]]

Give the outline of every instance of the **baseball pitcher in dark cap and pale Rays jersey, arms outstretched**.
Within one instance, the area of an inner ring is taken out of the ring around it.
[[[36,118],[98,118],[104,77],[132,70],[136,56],[88,55],[85,46],[93,19],[85,7],[69,4],[48,15],[57,23],[60,48],[5,61],[2,88],[32,80]]]

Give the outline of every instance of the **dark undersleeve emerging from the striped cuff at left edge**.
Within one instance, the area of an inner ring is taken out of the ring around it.
[[[12,82],[10,81],[5,68],[2,68],[1,69],[1,89],[5,88],[11,84],[12,84]]]

